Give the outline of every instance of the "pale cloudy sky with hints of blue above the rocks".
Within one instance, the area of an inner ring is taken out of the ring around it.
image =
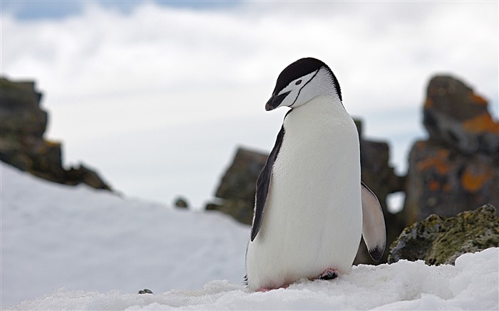
[[[237,147],[269,152],[280,71],[334,71],[364,138],[403,174],[429,79],[453,75],[498,120],[497,1],[4,1],[0,73],[36,80],[46,138],[127,196],[212,200]]]

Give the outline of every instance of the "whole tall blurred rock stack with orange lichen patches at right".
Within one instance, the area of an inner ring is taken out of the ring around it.
[[[499,204],[499,123],[487,102],[459,80],[431,79],[423,107],[429,138],[409,155],[406,225],[430,214],[455,216]]]

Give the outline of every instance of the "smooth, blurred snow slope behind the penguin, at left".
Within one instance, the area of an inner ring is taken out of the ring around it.
[[[61,287],[137,293],[242,282],[249,226],[225,214],[0,170],[2,305]]]

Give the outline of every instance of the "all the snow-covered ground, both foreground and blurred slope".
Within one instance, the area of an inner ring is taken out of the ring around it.
[[[248,226],[0,170],[2,310],[499,309],[499,248],[249,292]]]

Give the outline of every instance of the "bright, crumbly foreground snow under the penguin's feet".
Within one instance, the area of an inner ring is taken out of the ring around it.
[[[499,248],[461,255],[456,265],[419,260],[359,265],[332,281],[302,280],[287,289],[248,292],[227,280],[202,290],[157,295],[61,288],[14,309],[30,310],[498,310]]]

